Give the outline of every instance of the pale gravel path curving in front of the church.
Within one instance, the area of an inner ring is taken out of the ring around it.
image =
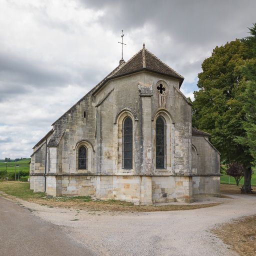
[[[237,255],[209,229],[241,216],[255,215],[255,197],[228,194],[223,204],[183,211],[87,212],[49,208],[22,201],[40,218],[62,229],[95,255]],[[71,221],[72,219],[78,219]]]

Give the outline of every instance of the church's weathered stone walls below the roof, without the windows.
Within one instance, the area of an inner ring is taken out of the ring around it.
[[[159,83],[165,86],[163,94],[157,90]],[[46,152],[46,192],[140,204],[191,201],[191,139],[201,152],[194,174],[218,173],[219,155],[203,137],[191,138],[191,105],[178,85],[175,78],[142,71],[110,80],[94,95],[81,98],[53,125],[51,136],[56,139]],[[122,118],[126,114],[133,122],[131,169],[122,168]],[[164,169],[155,168],[158,115],[165,118],[168,133]],[[77,169],[77,148],[81,144],[87,147],[89,157],[84,170]],[[45,169],[45,145],[36,149],[31,164],[31,169],[41,174]],[[34,191],[41,190],[44,177],[31,176],[30,182]]]

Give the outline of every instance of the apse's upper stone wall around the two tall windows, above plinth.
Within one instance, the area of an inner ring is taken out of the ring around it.
[[[156,89],[159,81],[165,84],[164,95],[160,95]],[[151,94],[144,95],[144,88],[149,87]],[[152,140],[154,123],[150,122],[150,115],[153,121],[159,110],[171,116],[167,134],[171,140],[168,143],[168,157],[171,157],[165,174],[191,172],[191,106],[177,88],[178,81],[174,78],[139,72],[109,81],[94,95],[97,112],[97,173],[158,174],[155,164],[152,165],[155,143]],[[133,168],[129,170],[121,168],[121,138],[117,135],[118,127],[115,127],[118,124],[118,113],[124,110],[129,111],[134,120],[135,154]]]

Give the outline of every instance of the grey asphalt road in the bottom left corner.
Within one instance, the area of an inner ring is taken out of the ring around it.
[[[32,214],[28,209],[0,196],[1,256],[94,255],[70,240],[60,226]]]

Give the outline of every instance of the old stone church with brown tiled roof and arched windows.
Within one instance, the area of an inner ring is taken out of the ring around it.
[[[136,204],[219,194],[219,152],[191,127],[183,77],[143,45],[35,144],[30,188]]]

